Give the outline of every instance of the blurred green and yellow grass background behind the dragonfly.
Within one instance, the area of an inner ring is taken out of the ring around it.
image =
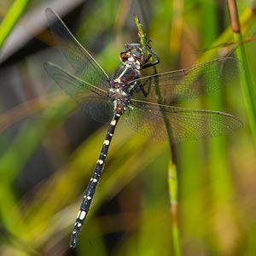
[[[2,18],[12,3],[1,1]],[[9,22],[17,22],[0,51],[0,255],[177,255],[168,188],[170,148],[131,131],[125,120],[113,137],[79,245],[68,248],[107,126],[76,108],[44,72],[44,61],[65,67],[51,47],[44,9],[61,15],[112,75],[124,44],[137,42],[134,13],[160,56],[159,72],[227,55],[232,46],[209,50],[233,41],[226,31],[225,1],[15,4]],[[238,1],[245,38],[256,28],[250,4]],[[255,42],[245,48],[255,84]],[[172,148],[183,255],[256,255],[256,161],[241,86],[237,79],[212,96],[182,105],[232,113],[244,124],[235,134]]]

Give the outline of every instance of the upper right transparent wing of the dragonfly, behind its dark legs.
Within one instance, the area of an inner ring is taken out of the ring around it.
[[[136,79],[131,84],[137,83],[137,88],[141,89],[134,98],[147,102],[156,102],[155,86],[158,84],[165,104],[171,105],[218,90],[236,79],[242,69],[241,61],[236,58],[221,57],[195,67]]]

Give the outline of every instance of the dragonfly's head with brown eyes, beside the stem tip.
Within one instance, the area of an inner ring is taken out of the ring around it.
[[[125,64],[127,61],[135,62],[137,68],[143,65],[144,55],[141,44],[125,44],[125,49],[120,53],[120,60]]]

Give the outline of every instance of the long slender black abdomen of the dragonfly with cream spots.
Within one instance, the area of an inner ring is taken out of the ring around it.
[[[87,186],[87,189],[85,190],[84,199],[82,201],[81,207],[79,209],[79,214],[76,218],[76,222],[73,227],[72,237],[71,237],[71,241],[70,241],[71,248],[76,247],[76,245],[78,243],[79,234],[82,230],[84,220],[90,210],[90,203],[92,201],[93,195],[95,194],[95,191],[96,191],[97,184],[99,183],[100,177],[102,175],[102,171],[103,171],[104,165],[105,165],[105,160],[106,160],[106,157],[108,154],[108,148],[110,146],[111,139],[113,137],[113,132],[114,132],[117,122],[119,121],[119,118],[120,118],[120,114],[115,113],[113,115],[113,119],[108,127],[108,132],[107,132],[105,141],[102,145],[101,154],[99,156],[99,159],[96,162],[96,166],[95,166],[93,174],[90,178],[90,182]]]

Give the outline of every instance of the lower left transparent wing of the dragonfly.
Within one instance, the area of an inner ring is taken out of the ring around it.
[[[54,63],[45,62],[44,69],[93,119],[108,123],[113,115],[113,103],[109,101],[107,91],[74,77]]]

